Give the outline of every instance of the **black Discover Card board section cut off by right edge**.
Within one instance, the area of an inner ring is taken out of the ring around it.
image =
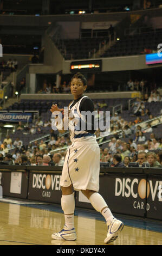
[[[162,175],[149,175],[147,183],[147,218],[162,220]]]

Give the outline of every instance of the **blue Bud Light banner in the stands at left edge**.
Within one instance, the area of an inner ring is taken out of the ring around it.
[[[32,113],[3,113],[0,112],[0,121],[31,123]]]

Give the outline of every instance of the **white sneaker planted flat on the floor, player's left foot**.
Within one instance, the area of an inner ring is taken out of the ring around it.
[[[51,237],[56,240],[76,240],[75,228],[67,230],[64,229],[65,227],[66,226],[64,225],[63,229],[60,232],[52,234]]]

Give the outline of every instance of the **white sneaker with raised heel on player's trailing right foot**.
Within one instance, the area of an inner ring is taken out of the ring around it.
[[[124,224],[121,221],[117,220],[116,218],[113,218],[113,220],[109,222],[107,237],[104,240],[104,242],[105,243],[111,243],[114,240],[116,240],[116,238],[119,235],[119,232],[123,228],[124,228]]]

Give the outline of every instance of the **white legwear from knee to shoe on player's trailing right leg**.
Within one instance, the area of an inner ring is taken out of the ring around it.
[[[114,216],[112,215],[111,210],[108,208],[105,200],[99,193],[97,192],[93,193],[89,197],[89,201],[96,211],[101,212],[101,210],[105,208],[104,210],[102,210],[101,214],[105,218],[106,222],[113,220]]]

